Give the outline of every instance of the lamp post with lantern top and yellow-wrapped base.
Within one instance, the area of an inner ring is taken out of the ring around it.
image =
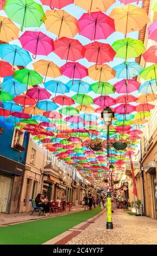
[[[107,229],[113,229],[112,223],[112,196],[110,193],[110,182],[109,182],[109,126],[112,124],[112,119],[114,117],[114,112],[111,108],[106,107],[101,113],[101,118],[104,120],[104,124],[107,126],[107,180],[108,180],[108,189],[107,189]]]

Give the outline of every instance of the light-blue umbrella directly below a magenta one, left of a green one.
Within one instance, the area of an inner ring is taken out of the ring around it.
[[[82,80],[70,80],[66,84],[70,90],[72,90],[75,93],[89,93],[91,91],[90,85],[87,82],[84,82]]]

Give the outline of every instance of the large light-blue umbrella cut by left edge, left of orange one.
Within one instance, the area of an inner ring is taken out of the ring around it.
[[[1,58],[13,66],[27,66],[31,61],[29,52],[17,45],[2,44]]]

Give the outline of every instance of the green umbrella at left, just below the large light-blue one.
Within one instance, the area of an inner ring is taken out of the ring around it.
[[[42,83],[43,77],[35,70],[20,69],[14,72],[14,78],[20,82],[30,86],[35,86],[38,83]]]

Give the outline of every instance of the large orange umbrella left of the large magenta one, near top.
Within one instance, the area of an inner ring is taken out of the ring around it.
[[[80,31],[77,19],[64,10],[47,10],[43,21],[47,30],[58,38],[62,36],[74,38]]]

